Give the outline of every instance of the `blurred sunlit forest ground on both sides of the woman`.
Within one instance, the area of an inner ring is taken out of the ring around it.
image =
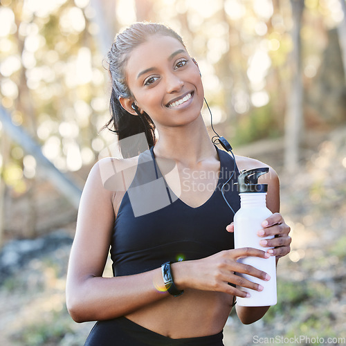
[[[278,143],[265,144],[262,151],[257,145],[256,155],[280,174],[282,215],[292,228],[292,251],[277,267],[277,305],[253,325],[242,325],[233,311],[224,343],[346,344],[346,129],[314,138],[312,147],[304,147],[297,174],[282,169]],[[237,154],[246,154],[246,148]],[[64,295],[74,227],[71,222],[39,239],[17,240],[3,248],[0,345],[83,345],[93,322],[73,322]],[[111,275],[109,265],[106,275]]]

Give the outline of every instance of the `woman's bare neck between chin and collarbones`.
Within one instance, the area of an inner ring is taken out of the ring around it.
[[[185,126],[158,128],[154,151],[157,157],[170,158],[185,166],[218,157],[201,115]]]

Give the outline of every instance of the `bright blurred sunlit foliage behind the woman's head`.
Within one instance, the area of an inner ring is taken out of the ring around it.
[[[309,91],[323,64],[327,32],[339,19],[331,0],[305,1],[305,7],[302,65]],[[101,49],[105,34],[113,37],[135,20],[165,21],[183,36],[199,62],[215,125],[228,129],[223,135],[235,145],[284,132],[293,48],[289,0],[262,6],[255,0],[212,6],[206,0],[2,0],[0,15],[6,18],[0,26],[1,104],[60,170],[90,165],[115,140],[99,133],[109,118]],[[24,193],[36,167],[25,151],[12,154],[17,145],[6,145],[1,129],[0,137],[1,175]]]

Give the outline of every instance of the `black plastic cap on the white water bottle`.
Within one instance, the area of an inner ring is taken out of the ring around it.
[[[259,184],[258,178],[262,174],[269,172],[268,167],[255,168],[253,170],[244,170],[238,176],[239,193],[265,193],[268,190],[268,184]]]

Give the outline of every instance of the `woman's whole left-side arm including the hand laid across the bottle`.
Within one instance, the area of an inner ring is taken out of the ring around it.
[[[113,193],[104,188],[96,164],[83,190],[67,273],[66,304],[76,322],[116,318],[164,298],[179,299],[165,292],[161,268],[137,275],[102,277],[114,224],[112,200]],[[228,282],[250,289],[259,287],[235,275],[235,271],[262,280],[266,276],[256,268],[237,262],[246,256],[266,257],[266,253],[244,248],[174,263],[174,282],[179,289],[220,291],[244,297],[244,291]]]

